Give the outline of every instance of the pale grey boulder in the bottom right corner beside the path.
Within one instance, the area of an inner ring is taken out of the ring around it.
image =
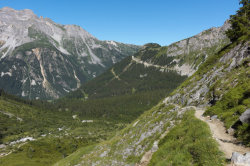
[[[234,166],[250,166],[250,152],[244,155],[238,152],[233,152],[231,163]]]

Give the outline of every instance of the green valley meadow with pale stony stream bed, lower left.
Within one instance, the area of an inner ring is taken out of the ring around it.
[[[0,165],[52,165],[79,147],[106,140],[125,125],[106,118],[84,124],[81,120],[86,119],[85,116],[77,114],[73,119],[74,112],[41,109],[30,103],[16,97],[0,96],[0,142],[7,145],[0,149],[0,153],[12,151],[0,158]],[[27,136],[36,140],[9,145]]]

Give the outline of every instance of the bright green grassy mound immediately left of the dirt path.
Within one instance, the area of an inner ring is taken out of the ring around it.
[[[159,142],[159,150],[154,153],[149,165],[222,166],[222,156],[208,125],[196,119],[194,111],[188,111],[182,122]]]

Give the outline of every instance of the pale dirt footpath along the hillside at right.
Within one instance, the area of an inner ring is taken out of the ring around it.
[[[221,121],[218,119],[210,120],[208,117],[203,117],[202,114],[204,111],[196,107],[194,108],[196,109],[195,116],[209,125],[213,138],[219,143],[219,148],[224,152],[227,159],[231,158],[233,152],[244,154],[250,151],[250,148],[236,144],[236,139],[226,133],[226,128]]]

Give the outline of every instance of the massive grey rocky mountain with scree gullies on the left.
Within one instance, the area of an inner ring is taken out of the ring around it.
[[[77,25],[31,10],[0,9],[0,88],[28,99],[55,99],[80,87],[140,46],[100,41]]]

